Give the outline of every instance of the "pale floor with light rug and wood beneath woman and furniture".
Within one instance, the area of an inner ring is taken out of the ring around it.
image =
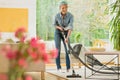
[[[74,68],[74,69],[77,74],[82,76],[82,78],[67,78],[66,75],[71,75],[72,70],[70,72],[66,72],[66,69],[64,68],[64,66],[63,66],[63,72],[58,72],[56,70],[56,66],[47,66],[46,72],[44,72],[44,79],[41,79],[41,77],[43,77],[43,76],[41,76],[41,72],[26,72],[25,74],[31,75],[33,77],[33,80],[118,80],[117,75],[111,76],[111,75],[105,75],[105,74],[103,74],[103,75],[97,74],[94,77],[92,77],[92,79],[85,79],[84,66],[82,66],[81,68]],[[90,73],[89,70],[87,70],[87,71],[88,71],[87,74],[89,74]],[[116,79],[112,79],[112,78],[116,78]],[[1,80],[1,78],[0,78],[0,80]]]

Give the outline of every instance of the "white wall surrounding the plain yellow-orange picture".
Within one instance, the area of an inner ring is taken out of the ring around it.
[[[0,8],[28,8],[28,37],[36,36],[36,0],[0,0]],[[14,38],[13,33],[2,33],[2,39]]]

